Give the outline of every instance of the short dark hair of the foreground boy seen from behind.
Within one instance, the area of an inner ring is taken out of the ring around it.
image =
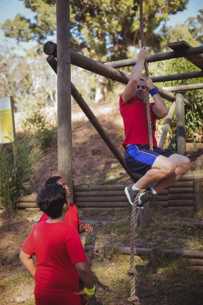
[[[64,203],[67,203],[66,190],[59,184],[46,185],[37,197],[41,211],[53,219],[61,216]]]

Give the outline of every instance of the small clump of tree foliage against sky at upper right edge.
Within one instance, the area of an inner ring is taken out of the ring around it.
[[[198,10],[199,14],[194,17],[189,17],[186,20],[186,25],[189,28],[192,37],[200,44],[203,43],[203,10]]]

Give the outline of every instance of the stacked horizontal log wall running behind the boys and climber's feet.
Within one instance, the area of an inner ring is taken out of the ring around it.
[[[156,195],[156,204],[168,209],[202,209],[203,175],[185,175],[170,188]],[[126,208],[129,206],[124,194],[127,185],[75,186],[75,203],[79,208]],[[150,203],[152,206],[153,203]],[[37,207],[36,194],[19,198],[18,207]]]

